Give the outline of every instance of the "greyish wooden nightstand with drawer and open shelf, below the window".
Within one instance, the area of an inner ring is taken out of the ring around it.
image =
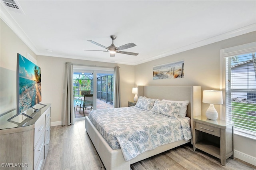
[[[234,122],[210,120],[203,116],[193,118],[193,150],[196,148],[220,159],[234,159]]]

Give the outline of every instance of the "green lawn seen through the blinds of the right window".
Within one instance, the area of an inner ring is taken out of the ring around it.
[[[232,108],[236,127],[256,132],[256,103],[232,102]]]

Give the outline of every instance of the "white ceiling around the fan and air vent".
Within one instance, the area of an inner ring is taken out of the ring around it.
[[[1,0],[2,1],[2,0]],[[16,1],[17,2],[17,1]],[[1,3],[1,18],[36,53],[137,65],[256,31],[256,1],[19,0],[14,12]],[[118,47],[137,56],[108,52]],[[51,51],[51,52],[50,52]]]

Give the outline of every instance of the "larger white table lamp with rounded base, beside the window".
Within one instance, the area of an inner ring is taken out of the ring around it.
[[[204,90],[203,103],[210,104],[206,111],[206,117],[211,120],[216,120],[218,118],[218,112],[216,111],[214,104],[223,104],[222,91]]]

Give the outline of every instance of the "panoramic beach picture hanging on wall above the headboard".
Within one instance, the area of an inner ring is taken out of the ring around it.
[[[184,77],[184,60],[153,67],[153,80],[177,79]]]

